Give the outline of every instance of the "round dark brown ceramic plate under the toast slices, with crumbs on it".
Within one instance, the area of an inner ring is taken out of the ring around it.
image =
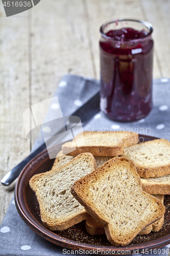
[[[140,135],[140,137],[141,140],[143,138],[144,141],[156,139],[155,137],[145,135]],[[62,143],[58,144],[58,152],[61,150],[61,145]],[[129,253],[135,253],[134,250],[138,250],[138,252],[145,252],[146,249],[153,250],[170,244],[170,196],[168,195],[164,198],[166,212],[164,224],[161,230],[159,232],[151,232],[147,235],[137,236],[131,244],[126,247],[112,246],[104,234],[91,236],[86,232],[85,221],[62,231],[51,231],[44,227],[40,218],[38,201],[29,186],[29,180],[35,174],[50,170],[53,162],[54,159],[49,159],[46,150],[37,155],[22,170],[15,188],[15,204],[19,215],[31,229],[39,234],[39,236],[64,248],[72,250],[91,250],[89,253],[95,251],[98,252],[98,254],[109,253],[120,255],[127,254],[127,250],[130,250]]]

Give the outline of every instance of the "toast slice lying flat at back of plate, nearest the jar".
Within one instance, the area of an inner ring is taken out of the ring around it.
[[[137,133],[84,132],[78,134],[72,142],[63,144],[62,153],[69,156],[84,152],[90,152],[93,156],[118,156],[124,153],[124,147],[137,142]]]

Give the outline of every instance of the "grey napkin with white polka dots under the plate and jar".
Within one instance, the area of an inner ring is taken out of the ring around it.
[[[98,80],[76,75],[65,75],[58,85],[55,96],[58,96],[63,115],[71,115],[99,90]],[[86,123],[83,129],[84,131],[114,131],[125,129],[170,140],[169,99],[170,79],[156,79],[153,81],[154,108],[146,118],[135,122],[120,123],[106,118],[103,113],[99,112],[93,119]],[[42,143],[43,141],[37,140],[32,151]],[[164,246],[160,251],[155,251],[154,255],[167,255],[168,249],[169,245]],[[138,255],[149,254],[151,252],[147,254],[139,253]],[[44,240],[32,231],[20,218],[15,207],[14,199],[12,199],[0,227],[0,255],[53,256],[68,255],[68,253],[65,253],[62,247]]]

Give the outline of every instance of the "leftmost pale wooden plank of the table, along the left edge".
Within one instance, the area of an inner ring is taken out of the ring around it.
[[[0,3],[0,177],[30,152],[22,114],[29,106],[28,18],[6,17]],[[14,194],[14,184],[0,184],[0,224]]]

